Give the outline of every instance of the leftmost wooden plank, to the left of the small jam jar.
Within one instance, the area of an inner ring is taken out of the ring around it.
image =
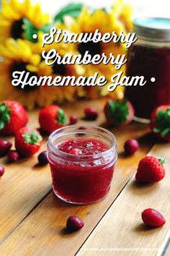
[[[38,127],[37,111],[30,114],[29,125]],[[14,145],[14,138],[11,141]],[[46,139],[40,150],[45,148]],[[5,174],[0,179],[0,240],[52,189],[49,168],[37,166],[37,155],[38,153],[32,158],[20,159],[16,163],[8,163],[7,158],[0,158],[0,165],[5,167]]]

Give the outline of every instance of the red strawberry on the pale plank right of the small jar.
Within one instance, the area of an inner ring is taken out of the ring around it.
[[[135,179],[137,182],[141,183],[151,183],[159,182],[164,179],[165,160],[163,158],[155,158],[153,156],[146,156],[141,159],[138,165],[137,173],[135,174]]]

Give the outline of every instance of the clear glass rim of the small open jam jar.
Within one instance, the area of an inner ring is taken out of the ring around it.
[[[67,128],[70,128],[70,129],[74,129],[74,132],[61,132],[63,129],[67,129]],[[85,128],[85,129],[84,129]],[[96,132],[88,132],[88,129],[96,129]],[[70,154],[70,153],[66,153],[66,152],[63,152],[61,150],[58,150],[58,148],[56,148],[54,145],[53,145],[53,140],[55,140],[57,137],[61,137],[62,135],[67,135],[67,134],[74,134],[74,133],[84,133],[84,134],[89,134],[89,135],[97,135],[97,131],[102,131],[102,132],[106,132],[107,135],[109,135],[109,138],[110,140],[107,139],[106,136],[100,136],[100,137],[103,137],[105,140],[109,141],[110,144],[111,144],[111,140],[112,140],[112,144],[110,145],[109,149],[108,150],[104,150],[100,153],[97,153],[97,154],[89,154],[89,155],[73,155],[73,154]],[[58,136],[56,135],[56,132],[58,132]],[[61,132],[61,133],[60,133]],[[47,148],[48,148],[48,151],[50,154],[54,155],[54,156],[57,156],[57,157],[62,157],[62,158],[72,158],[73,161],[74,160],[84,160],[85,158],[88,159],[88,158],[102,158],[106,155],[110,155],[112,154],[112,156],[114,155],[115,156],[115,161],[117,160],[117,140],[115,138],[115,135],[112,134],[112,132],[109,132],[109,130],[107,129],[104,129],[102,127],[95,127],[95,126],[87,126],[87,125],[68,125],[66,127],[61,127],[61,128],[58,128],[58,129],[55,129],[54,132],[52,132],[50,134],[50,136],[48,137],[48,143],[47,143]]]

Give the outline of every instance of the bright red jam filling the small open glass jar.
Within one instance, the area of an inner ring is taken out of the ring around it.
[[[48,155],[55,195],[76,204],[97,202],[107,195],[117,159],[107,142],[74,137],[58,142],[55,150],[55,156],[50,150]]]

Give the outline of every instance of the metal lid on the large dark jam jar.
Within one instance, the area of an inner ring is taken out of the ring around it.
[[[133,20],[133,32],[145,38],[170,41],[170,19],[136,18]]]

